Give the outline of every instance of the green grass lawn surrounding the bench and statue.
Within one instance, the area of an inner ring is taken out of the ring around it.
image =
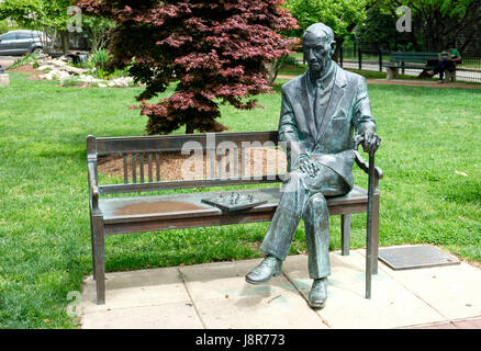
[[[146,118],[127,110],[141,90],[10,79],[0,88],[0,328],[76,328],[67,294],[91,274],[86,137],[142,135]],[[259,98],[264,110],[223,106],[220,122],[233,132],[276,129],[276,91]],[[481,92],[369,86],[369,93],[385,174],[380,245],[434,244],[481,262]],[[366,186],[366,176],[355,177]],[[354,216],[353,248],[365,246],[365,224],[366,215]],[[108,237],[107,271],[260,257],[267,226]],[[339,247],[336,216],[331,248]]]

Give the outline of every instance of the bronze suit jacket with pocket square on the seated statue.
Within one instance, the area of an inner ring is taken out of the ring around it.
[[[321,109],[323,115],[314,115],[313,98],[307,91],[312,89],[309,69],[282,86],[279,140],[288,145],[289,171],[299,168],[300,156],[304,154],[333,169],[353,188],[354,131],[376,132],[376,122],[366,79],[332,64],[335,82]]]

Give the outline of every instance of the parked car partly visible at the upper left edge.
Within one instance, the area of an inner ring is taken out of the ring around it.
[[[38,31],[10,31],[0,35],[0,56],[42,54],[43,33]]]

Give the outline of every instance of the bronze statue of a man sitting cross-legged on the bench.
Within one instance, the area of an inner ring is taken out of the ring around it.
[[[342,69],[332,56],[334,32],[323,23],[303,35],[307,69],[282,86],[279,140],[288,145],[289,173],[281,186],[278,208],[260,250],[262,262],[246,275],[251,284],[281,272],[292,238],[304,219],[309,274],[313,279],[309,303],[325,306],[329,263],[329,214],[325,196],[347,194],[354,186],[353,135],[363,137],[365,151],[376,151],[380,138],[371,115],[366,79]]]

